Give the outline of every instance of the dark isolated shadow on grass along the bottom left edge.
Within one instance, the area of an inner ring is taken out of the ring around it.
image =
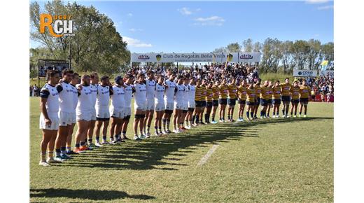
[[[149,195],[129,195],[123,191],[117,190],[69,190],[69,189],[30,189],[30,197],[67,197],[71,199],[83,200],[118,200],[123,198],[132,198],[136,200],[155,199]]]

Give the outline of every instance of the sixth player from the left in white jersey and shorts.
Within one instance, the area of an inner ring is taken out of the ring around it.
[[[113,87],[111,87],[109,76],[102,76],[101,84],[97,86],[96,98],[96,146],[102,146],[100,143],[100,131],[102,129],[102,143],[107,144],[106,134],[109,126],[110,112],[109,101],[113,95]]]

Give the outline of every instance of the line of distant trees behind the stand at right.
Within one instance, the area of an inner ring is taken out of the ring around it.
[[[251,38],[230,43],[226,47],[216,48],[214,52],[261,52],[260,71],[292,73],[293,69],[316,70],[323,60],[334,61],[334,43],[321,43],[316,39],[308,41],[280,41],[266,38],[263,43]]]

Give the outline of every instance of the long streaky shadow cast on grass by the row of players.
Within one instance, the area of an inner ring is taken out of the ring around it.
[[[186,133],[169,134],[167,137],[153,137],[143,141],[127,141],[121,145],[105,146],[77,155],[73,160],[62,163],[69,167],[92,167],[100,169],[134,170],[177,170],[173,166],[186,166],[164,162],[179,158],[165,158],[168,155],[183,157],[193,153],[197,147],[240,139],[259,139],[259,125],[299,123],[304,120],[328,120],[333,118],[276,118],[244,123],[222,123],[193,128]],[[61,166],[60,165],[60,166]]]

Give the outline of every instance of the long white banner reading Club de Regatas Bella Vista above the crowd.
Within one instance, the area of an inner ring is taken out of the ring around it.
[[[260,62],[260,52],[132,53],[131,62]]]

